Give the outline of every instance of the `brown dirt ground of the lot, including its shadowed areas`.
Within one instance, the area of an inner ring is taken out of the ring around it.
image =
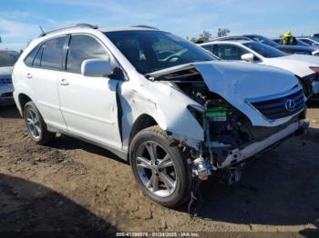
[[[262,154],[232,187],[204,183],[199,217],[190,219],[186,206],[171,210],[149,201],[115,155],[66,136],[49,146],[33,144],[15,106],[0,108],[0,232],[312,236],[319,231],[319,109],[312,106],[307,117],[306,144],[293,138]]]

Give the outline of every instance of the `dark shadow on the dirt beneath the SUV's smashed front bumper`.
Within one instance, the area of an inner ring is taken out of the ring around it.
[[[213,178],[202,183],[199,217],[248,225],[313,224],[317,228],[304,235],[319,235],[319,129],[311,128],[308,137],[305,145],[293,138],[257,156],[237,184],[227,186]]]

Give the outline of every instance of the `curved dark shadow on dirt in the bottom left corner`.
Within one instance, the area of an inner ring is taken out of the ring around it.
[[[114,237],[107,221],[51,189],[0,174],[0,235]],[[3,236],[2,236],[3,237]]]

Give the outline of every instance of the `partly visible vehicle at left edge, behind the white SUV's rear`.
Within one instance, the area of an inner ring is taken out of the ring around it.
[[[11,74],[17,58],[15,51],[0,50],[0,105],[15,104]]]

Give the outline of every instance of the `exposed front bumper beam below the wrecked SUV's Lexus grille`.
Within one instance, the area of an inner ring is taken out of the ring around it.
[[[309,123],[306,123],[304,120],[294,122],[289,124],[282,131],[272,134],[268,138],[247,145],[242,149],[234,149],[229,152],[229,155],[226,157],[225,161],[221,163],[220,168],[226,168],[232,164],[238,164],[245,159],[252,157],[255,154],[258,154],[265,149],[271,147],[272,145],[283,142],[283,140],[290,135],[293,135],[296,132],[304,132],[309,127]]]

